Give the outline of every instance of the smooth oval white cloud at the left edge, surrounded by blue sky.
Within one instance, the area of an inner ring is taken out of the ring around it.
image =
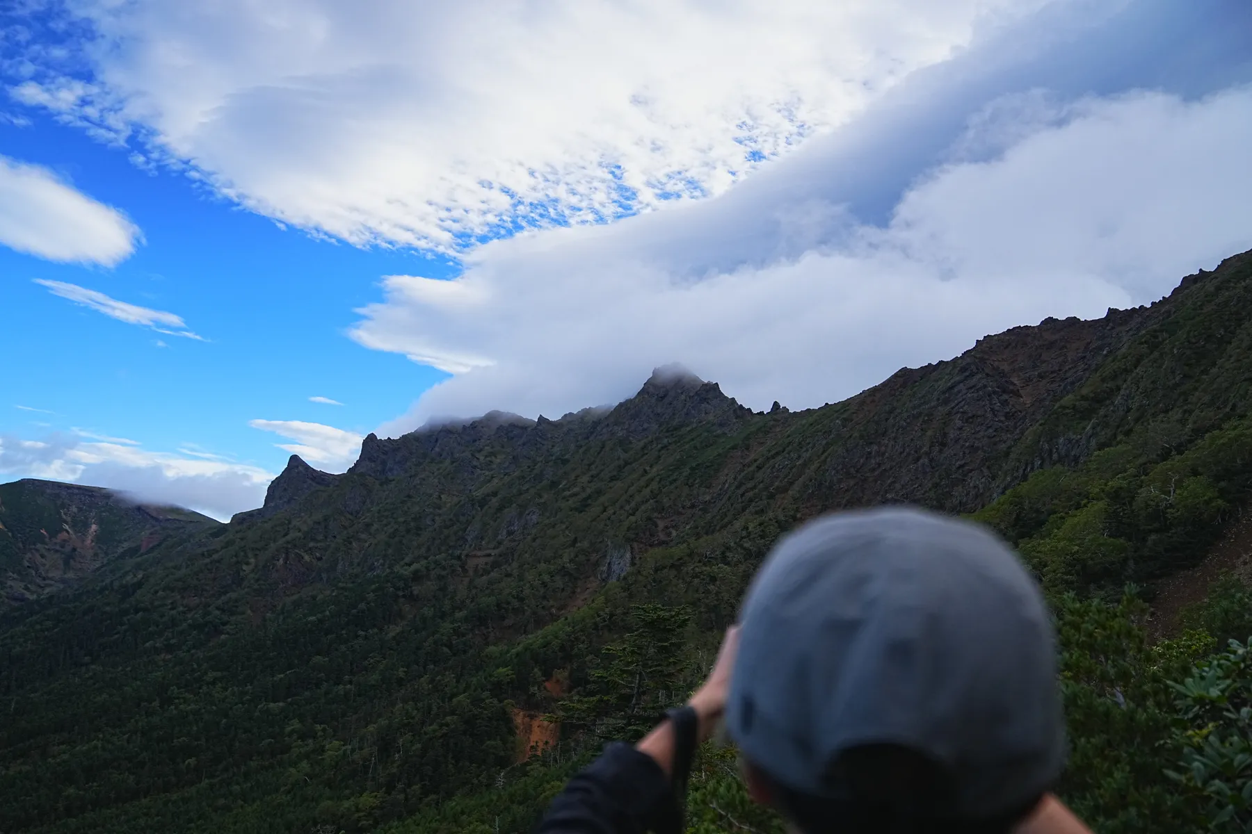
[[[130,255],[139,228],[53,171],[0,156],[0,244],[46,260],[111,266]]]

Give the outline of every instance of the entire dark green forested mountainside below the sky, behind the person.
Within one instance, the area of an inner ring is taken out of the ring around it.
[[[884,501],[969,514],[1039,576],[1058,789],[1096,830],[1244,830],[1248,310],[1252,253],[820,409],[661,370],[607,410],[371,435],[343,475],[293,458],[228,525],[5,485],[0,831],[528,830],[699,683],[781,533]],[[689,810],[781,831],[716,744]]]

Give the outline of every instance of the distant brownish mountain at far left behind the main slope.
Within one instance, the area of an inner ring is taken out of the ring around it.
[[[0,603],[45,596],[111,561],[213,526],[199,513],[135,504],[96,486],[0,484]]]

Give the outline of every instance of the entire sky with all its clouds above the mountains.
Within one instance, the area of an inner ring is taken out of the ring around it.
[[[1239,0],[267,8],[0,15],[0,479],[227,518],[293,450],[671,361],[821,405],[1252,248]]]

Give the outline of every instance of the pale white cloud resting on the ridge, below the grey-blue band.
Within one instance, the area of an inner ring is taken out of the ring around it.
[[[1194,103],[1083,100],[999,155],[931,170],[885,228],[820,200],[795,211],[794,193],[771,190],[762,171],[744,189],[774,203],[712,200],[490,244],[453,283],[456,304],[424,279],[388,278],[352,335],[443,368],[480,358],[388,433],[616,401],[672,360],[754,408],[821,405],[988,333],[1154,300],[1252,246],[1248,148],[1248,88]],[[821,151],[800,151],[777,176],[829,166]],[[699,249],[674,244],[732,249],[752,216],[771,219],[776,240],[800,240],[798,253],[767,246],[764,263],[692,271]]]

